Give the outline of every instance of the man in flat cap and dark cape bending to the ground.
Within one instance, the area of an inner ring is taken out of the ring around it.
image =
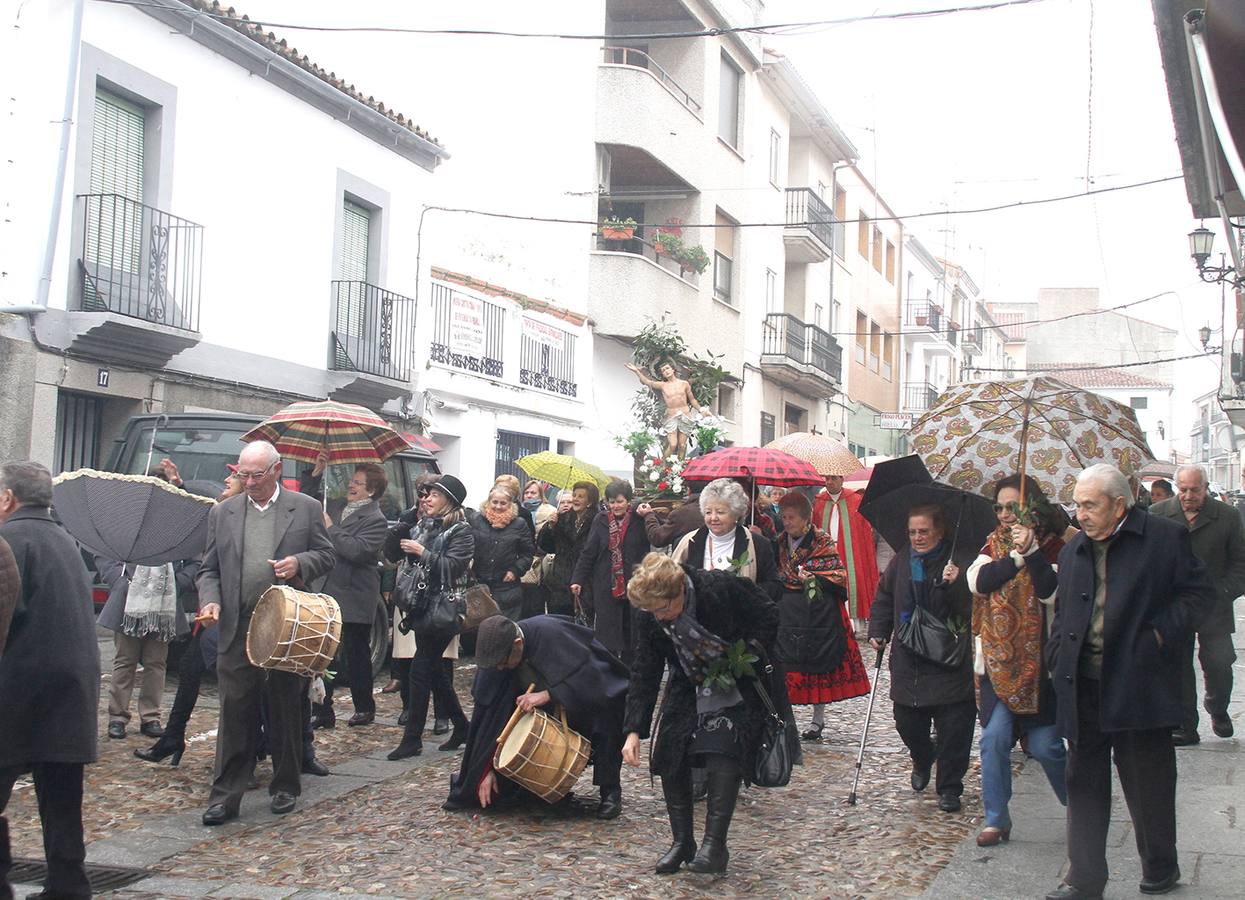
[[[451,779],[446,809],[488,807],[519,789],[493,771],[497,738],[518,706],[524,712],[554,706],[566,711],[573,729],[593,742],[593,783],[600,789],[598,818],[622,812],[622,712],[629,672],[593,630],[566,616],[533,616],[518,622],[492,616],[476,639],[476,708],[467,732],[462,768]],[[535,685],[530,692],[529,685]]]

